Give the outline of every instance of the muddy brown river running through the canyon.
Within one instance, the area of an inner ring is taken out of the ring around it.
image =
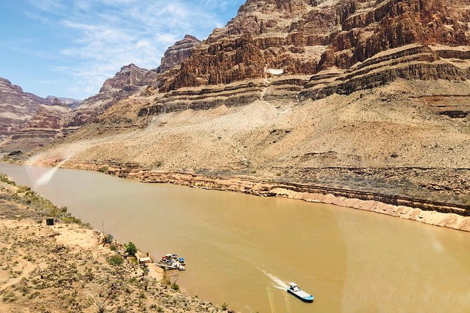
[[[0,164],[93,227],[154,258],[178,284],[242,312],[470,312],[470,233],[290,199]],[[282,290],[295,281],[315,296]]]

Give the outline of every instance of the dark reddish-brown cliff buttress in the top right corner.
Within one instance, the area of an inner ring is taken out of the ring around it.
[[[319,69],[349,68],[407,44],[469,45],[469,1],[343,1],[341,32],[332,36]]]

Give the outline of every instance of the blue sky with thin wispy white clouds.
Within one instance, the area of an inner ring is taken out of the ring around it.
[[[185,34],[206,39],[245,0],[0,0],[0,77],[84,100],[124,65],[158,67]]]

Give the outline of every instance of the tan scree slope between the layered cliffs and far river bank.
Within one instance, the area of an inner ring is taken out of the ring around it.
[[[133,98],[117,106],[129,107],[138,128],[114,116],[113,107],[100,123],[29,161],[244,175],[468,204],[468,118],[440,114],[443,106],[465,107],[468,86],[399,80],[316,101],[257,100],[151,119],[132,116],[131,106],[145,101]]]

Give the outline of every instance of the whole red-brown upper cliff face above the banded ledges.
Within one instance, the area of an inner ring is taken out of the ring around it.
[[[331,4],[331,5],[329,5]],[[407,44],[469,45],[469,0],[249,0],[160,91],[348,69]]]

